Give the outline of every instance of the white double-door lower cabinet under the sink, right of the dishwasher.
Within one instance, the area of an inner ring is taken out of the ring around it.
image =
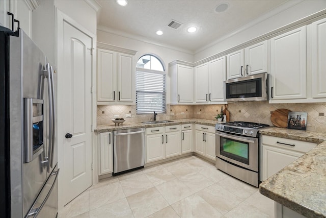
[[[180,154],[180,125],[146,129],[146,163]]]

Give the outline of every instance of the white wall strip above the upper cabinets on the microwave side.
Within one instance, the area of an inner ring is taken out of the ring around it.
[[[280,11],[278,14],[266,18],[265,20],[257,23],[256,25],[239,31],[238,33],[230,33],[225,39],[216,39],[216,43],[212,42],[207,49],[203,51],[197,51],[194,56],[194,61],[199,61],[209,56],[221,53],[225,50],[231,49],[234,46],[245,43],[256,37],[259,37],[268,32],[274,31],[291,22],[302,19],[306,16],[314,14],[318,11],[326,9],[325,0],[305,0],[305,1],[294,1],[291,0],[287,4],[295,4],[293,7]],[[285,4],[283,7],[288,6]]]

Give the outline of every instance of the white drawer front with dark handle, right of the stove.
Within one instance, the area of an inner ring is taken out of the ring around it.
[[[303,153],[309,152],[311,149],[317,146],[317,143],[298,141],[298,140],[280,138],[280,137],[269,136],[269,135],[262,135],[261,142],[269,146],[289,149],[289,150],[303,152]]]

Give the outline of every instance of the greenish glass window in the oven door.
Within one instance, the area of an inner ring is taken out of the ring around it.
[[[220,154],[249,165],[249,143],[220,137]]]

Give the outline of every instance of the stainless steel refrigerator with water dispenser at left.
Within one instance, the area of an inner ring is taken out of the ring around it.
[[[21,29],[0,27],[2,217],[57,216],[55,75]]]

